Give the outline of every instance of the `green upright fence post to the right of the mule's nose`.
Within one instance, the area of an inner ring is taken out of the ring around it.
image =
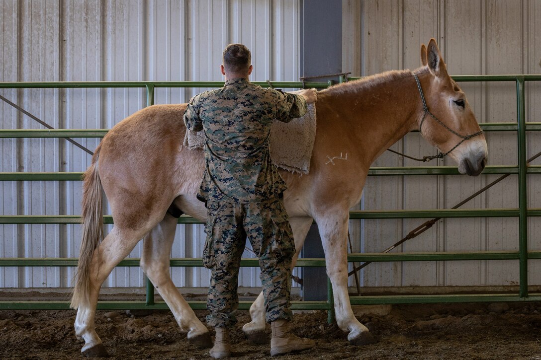
[[[528,238],[526,198],[526,120],[524,117],[524,77],[517,77],[518,123],[518,233],[519,233],[519,296],[528,296]]]

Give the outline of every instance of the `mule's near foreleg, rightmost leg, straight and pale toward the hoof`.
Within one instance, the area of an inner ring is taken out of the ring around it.
[[[349,303],[346,247],[348,215],[329,211],[326,217],[318,221],[318,226],[325,251],[327,276],[333,286],[334,311],[338,327],[349,331],[347,339],[354,345],[373,343],[372,334],[355,318]]]

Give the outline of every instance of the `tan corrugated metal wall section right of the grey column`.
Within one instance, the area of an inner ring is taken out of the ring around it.
[[[344,70],[368,76],[420,65],[419,49],[437,39],[451,75],[539,74],[541,72],[541,2],[387,0],[344,2]],[[479,122],[516,122],[514,83],[463,83]],[[526,121],[541,119],[541,84],[526,86]],[[429,104],[430,106],[430,104]],[[516,165],[514,132],[486,134],[489,164]],[[539,135],[527,137],[527,157],[540,149]],[[420,157],[435,153],[419,134],[409,134],[393,149]],[[539,162],[534,162],[538,164]],[[450,160],[439,165],[454,165]],[[375,166],[419,166],[391,153]],[[435,165],[434,161],[431,165]],[[422,166],[422,165],[421,165]],[[364,209],[451,208],[498,176],[369,177]],[[529,207],[539,207],[537,176],[528,178]],[[516,208],[517,176],[510,176],[463,208]],[[365,221],[361,250],[386,249],[425,220]],[[538,250],[539,219],[529,219],[530,249]],[[446,219],[406,242],[397,251],[517,250],[518,219]],[[539,262],[530,261],[531,285],[541,284]],[[368,286],[516,285],[516,261],[378,263],[362,276]]]

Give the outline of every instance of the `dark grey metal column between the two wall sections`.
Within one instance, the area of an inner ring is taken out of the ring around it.
[[[342,0],[304,0],[300,24],[302,76],[342,72]],[[338,82],[338,77],[321,80]],[[317,225],[308,232],[301,257],[325,257]],[[327,298],[324,268],[303,268],[302,279],[306,301]]]

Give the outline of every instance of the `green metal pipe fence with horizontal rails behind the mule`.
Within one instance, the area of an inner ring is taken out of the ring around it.
[[[349,79],[357,79],[355,77]],[[518,139],[517,166],[487,166],[483,175],[517,174],[519,186],[519,207],[509,209],[428,209],[428,210],[386,210],[386,211],[351,211],[350,219],[385,219],[385,218],[457,218],[457,217],[518,217],[518,251],[476,251],[476,252],[423,252],[423,253],[373,253],[350,254],[348,262],[392,262],[392,261],[464,261],[464,260],[518,260],[519,291],[517,294],[476,294],[476,295],[403,295],[403,296],[355,296],[352,304],[393,304],[393,303],[436,303],[436,302],[483,302],[483,301],[541,301],[541,294],[528,294],[527,261],[541,259],[541,251],[527,249],[527,217],[541,216],[541,209],[526,208],[526,174],[541,173],[541,166],[526,166],[526,131],[541,130],[541,123],[526,123],[524,116],[524,83],[541,81],[541,75],[480,75],[453,76],[458,82],[515,82],[517,89],[517,122],[480,124],[484,131],[516,131]],[[341,81],[346,81],[341,77]],[[269,86],[266,82],[254,82]],[[272,82],[275,88],[302,88],[302,82]],[[326,88],[332,82],[307,82],[306,88]],[[147,106],[154,104],[155,88],[216,88],[223,82],[4,82],[0,89],[32,88],[143,88],[147,92]],[[106,129],[54,129],[54,130],[0,130],[0,138],[47,138],[47,137],[103,137]],[[452,166],[423,167],[386,167],[371,168],[368,175],[458,175]],[[80,181],[82,172],[0,172],[0,181]],[[0,224],[74,224],[80,217],[71,215],[57,216],[0,216]],[[111,216],[104,216],[104,223],[111,224]],[[189,216],[181,216],[179,223],[201,223]],[[76,266],[76,258],[0,258],[0,266]],[[124,259],[118,266],[138,266],[139,259]],[[199,258],[173,258],[171,266],[202,266]],[[257,259],[242,259],[241,266],[258,266]],[[299,259],[297,266],[325,266],[325,259]],[[329,310],[329,320],[333,313],[333,296],[330,282],[327,301],[293,302],[293,309]],[[194,309],[204,309],[205,303],[190,301]],[[240,309],[248,309],[250,302],[240,302]],[[68,309],[67,301],[53,302],[0,302],[0,309]],[[165,303],[154,303],[154,291],[147,286],[146,302],[99,302],[98,309],[167,309]]]

